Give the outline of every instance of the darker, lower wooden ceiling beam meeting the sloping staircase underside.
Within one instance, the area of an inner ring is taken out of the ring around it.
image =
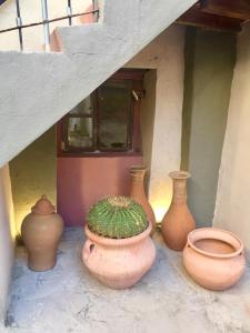
[[[179,24],[202,27],[217,31],[239,32],[243,21],[202,12],[197,6],[194,6],[184,12],[176,22]]]

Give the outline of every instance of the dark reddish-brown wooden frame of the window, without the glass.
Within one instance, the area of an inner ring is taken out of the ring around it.
[[[116,72],[111,78],[109,78],[106,82],[131,82],[131,92],[132,90],[139,97],[136,101],[131,99],[131,119],[128,124],[128,131],[130,131],[131,142],[128,142],[126,149],[121,148],[101,148],[100,149],[100,114],[98,113],[99,108],[99,89],[101,85],[90,94],[93,104],[92,115],[90,114],[66,114],[58,123],[57,123],[57,147],[58,147],[58,157],[60,158],[84,158],[84,157],[124,157],[124,155],[141,155],[141,133],[140,133],[140,107],[141,107],[141,98],[144,94],[143,91],[143,74],[146,70],[141,69],[121,69]],[[92,140],[93,145],[91,148],[72,148],[68,145],[64,133],[64,124],[69,118],[92,118]],[[131,125],[131,127],[130,127]],[[96,143],[96,144],[94,144]],[[68,148],[68,151],[64,150]],[[129,150],[127,150],[129,148]]]

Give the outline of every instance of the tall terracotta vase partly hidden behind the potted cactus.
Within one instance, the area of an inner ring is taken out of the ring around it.
[[[131,175],[130,196],[137,202],[139,202],[144,209],[147,218],[152,224],[152,231],[151,231],[151,235],[152,235],[156,231],[157,221],[156,221],[153,210],[144,192],[146,172],[147,172],[147,168],[143,165],[134,165],[130,168],[130,175]]]

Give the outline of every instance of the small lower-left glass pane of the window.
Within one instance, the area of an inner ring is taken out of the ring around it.
[[[69,118],[68,143],[74,148],[93,145],[92,118]]]

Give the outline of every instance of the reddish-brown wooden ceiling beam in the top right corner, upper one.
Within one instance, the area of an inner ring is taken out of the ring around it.
[[[228,18],[250,19],[250,0],[201,0],[202,12]]]

